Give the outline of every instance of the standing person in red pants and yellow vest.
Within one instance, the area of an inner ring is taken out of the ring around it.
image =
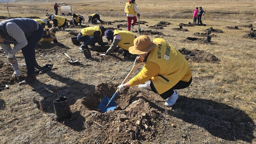
[[[134,29],[133,26],[135,26],[137,22],[137,16],[139,16],[139,11],[136,7],[135,0],[129,0],[128,3],[126,3],[125,8],[124,8],[124,15],[127,16],[127,30],[130,31],[131,28]],[[133,20],[133,22],[132,22]]]

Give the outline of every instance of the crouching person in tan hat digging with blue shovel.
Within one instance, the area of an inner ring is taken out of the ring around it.
[[[155,38],[151,42],[149,37],[142,35],[134,40],[133,45],[129,52],[138,54],[137,60],[145,64],[138,75],[128,83],[118,86],[119,92],[139,84],[138,87],[152,90],[167,99],[165,106],[173,106],[178,99],[176,90],[186,88],[192,82],[192,72],[187,60],[161,38]],[[144,82],[146,83],[142,84]]]

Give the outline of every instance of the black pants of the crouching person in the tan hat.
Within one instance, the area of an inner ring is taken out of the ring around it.
[[[167,99],[169,98],[171,95],[173,95],[174,91],[173,90],[180,90],[180,89],[183,89],[183,88],[186,88],[188,87],[192,82],[192,77],[191,79],[188,81],[188,82],[184,82],[184,81],[179,81],[175,86],[173,86],[172,88],[170,88],[170,90],[167,90],[166,92],[160,94],[160,96],[163,98],[163,99]],[[150,87],[151,87],[151,90],[155,93],[157,93],[157,91],[155,90],[155,87],[153,85],[153,83],[151,82],[150,83]]]

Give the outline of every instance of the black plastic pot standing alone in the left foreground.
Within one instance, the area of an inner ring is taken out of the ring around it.
[[[69,107],[69,101],[67,97],[60,96],[58,99],[53,101],[54,106],[54,120],[62,120],[71,116],[72,112]]]

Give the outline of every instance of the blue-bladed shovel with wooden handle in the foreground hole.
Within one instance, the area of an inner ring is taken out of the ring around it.
[[[138,58],[138,57],[137,57]],[[134,61],[134,64],[132,66],[132,69],[131,71],[129,72],[129,74],[125,77],[124,81],[122,84],[124,84],[128,79],[129,77],[131,76],[131,74],[135,71],[135,69],[137,69],[140,65],[142,65],[143,62],[141,62],[138,66],[135,66],[135,63],[136,63],[136,60],[137,58],[135,59]],[[109,98],[108,96],[105,96],[101,102],[99,103],[98,105],[98,109],[101,110],[102,113],[105,113],[105,112],[108,112],[110,110],[114,110],[117,106],[117,103],[114,101],[114,98],[116,97],[116,95],[118,94],[119,92],[119,88],[116,90],[116,92],[114,93],[114,95],[112,96],[112,98]]]

